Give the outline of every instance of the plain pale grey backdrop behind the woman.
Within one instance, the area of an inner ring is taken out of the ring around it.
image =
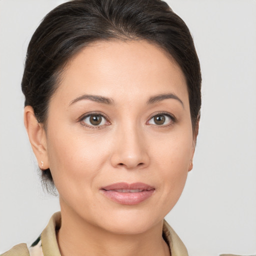
[[[32,242],[59,210],[23,127],[25,51],[60,0],[0,0],[0,252]],[[256,1],[168,0],[191,30],[202,111],[185,189],[166,216],[190,256],[256,254]]]

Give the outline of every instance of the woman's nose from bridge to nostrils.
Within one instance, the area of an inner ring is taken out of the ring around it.
[[[142,169],[149,164],[148,146],[141,131],[125,127],[115,133],[111,164],[129,170]]]

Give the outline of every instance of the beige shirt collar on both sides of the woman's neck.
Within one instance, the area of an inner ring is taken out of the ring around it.
[[[41,234],[41,244],[44,256],[61,256],[56,239],[56,230],[59,229],[60,226],[61,214],[60,211],[58,211],[52,215],[49,223],[43,229]],[[163,222],[162,230],[169,243],[171,256],[188,256],[185,245],[165,220]]]

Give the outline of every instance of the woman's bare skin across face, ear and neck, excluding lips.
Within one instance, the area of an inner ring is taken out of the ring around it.
[[[85,94],[111,103],[79,99]],[[162,94],[176,98],[148,103]],[[106,117],[102,125],[82,118],[95,112]],[[165,122],[156,124],[155,115]],[[169,255],[163,218],[183,190],[196,139],[185,77],[171,56],[143,40],[94,42],[66,65],[46,132],[30,106],[24,122],[59,192],[61,255]],[[100,190],[116,182],[155,190],[138,204],[119,204]]]

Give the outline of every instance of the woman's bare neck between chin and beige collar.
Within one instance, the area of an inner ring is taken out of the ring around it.
[[[139,234],[118,234],[88,223],[73,211],[61,208],[61,227],[57,241],[62,256],[169,256],[162,238],[160,221]]]

